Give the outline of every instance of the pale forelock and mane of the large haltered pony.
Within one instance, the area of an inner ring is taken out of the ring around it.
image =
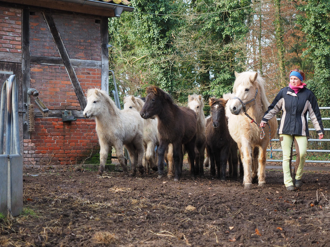
[[[250,78],[254,78],[255,73],[256,72],[252,70],[239,73],[239,75],[236,77],[234,82],[233,93],[236,92],[236,87],[238,85],[250,86],[251,85]],[[258,74],[256,82],[257,82],[258,94],[260,95],[260,99],[261,99],[262,110],[265,112],[269,105],[264,89],[265,80]]]

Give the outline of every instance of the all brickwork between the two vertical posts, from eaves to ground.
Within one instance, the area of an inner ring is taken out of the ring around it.
[[[100,24],[94,18],[53,18],[70,58],[101,60]],[[30,15],[30,28],[31,55],[60,56],[42,13]],[[84,92],[101,87],[101,69],[76,67],[75,72]],[[31,64],[31,87],[40,92],[39,98],[50,110],[82,110],[64,66]],[[31,103],[35,104],[33,97]],[[35,118],[35,131],[24,140],[24,164],[80,164],[91,150],[99,150],[93,119]]]

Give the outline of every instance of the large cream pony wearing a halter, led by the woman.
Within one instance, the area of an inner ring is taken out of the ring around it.
[[[240,149],[244,168],[244,188],[252,188],[252,179],[256,176],[258,186],[263,187],[266,184],[266,148],[269,135],[273,138],[276,134],[277,121],[275,117],[268,121],[270,129],[266,125],[265,135],[261,139],[261,128],[258,123],[269,105],[264,90],[264,80],[254,71],[242,73],[235,71],[235,76],[233,93],[224,95],[224,98],[228,98],[226,114],[229,117],[229,132]],[[258,165],[253,162],[254,156],[257,155],[256,148],[259,149],[259,156],[255,158]]]

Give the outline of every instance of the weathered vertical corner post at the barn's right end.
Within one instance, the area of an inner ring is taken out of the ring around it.
[[[109,94],[109,34],[108,34],[108,17],[102,17],[100,23],[101,31],[101,89]]]

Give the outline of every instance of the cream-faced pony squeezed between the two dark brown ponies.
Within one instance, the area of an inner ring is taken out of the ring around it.
[[[204,176],[203,162],[205,157],[205,127],[206,119],[204,116],[204,98],[202,95],[188,95],[188,107],[195,111],[197,115],[197,133],[196,133],[196,157],[195,174]]]

